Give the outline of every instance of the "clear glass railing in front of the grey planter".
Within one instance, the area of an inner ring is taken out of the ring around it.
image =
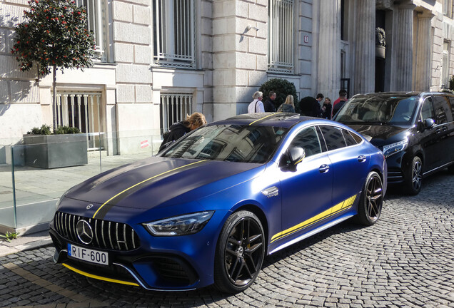
[[[69,188],[157,153],[158,131],[24,135],[0,144],[0,227],[44,230]]]

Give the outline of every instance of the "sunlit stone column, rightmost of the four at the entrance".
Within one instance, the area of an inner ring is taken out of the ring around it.
[[[416,43],[415,73],[413,74],[413,89],[429,91],[430,87],[430,36],[432,33],[433,14],[430,11],[418,12],[418,32]]]

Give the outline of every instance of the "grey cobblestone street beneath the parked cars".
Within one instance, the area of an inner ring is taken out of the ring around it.
[[[0,307],[454,307],[454,176],[389,190],[380,221],[353,222],[266,258],[246,292],[149,292],[54,265],[52,247],[0,257]]]

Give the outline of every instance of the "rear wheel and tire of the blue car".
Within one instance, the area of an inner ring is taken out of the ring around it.
[[[383,207],[383,182],[375,171],[365,179],[363,193],[358,204],[357,220],[362,225],[374,225]]]

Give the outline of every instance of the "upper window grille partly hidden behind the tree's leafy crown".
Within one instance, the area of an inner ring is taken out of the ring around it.
[[[88,29],[93,31],[95,36],[95,52],[106,61],[104,53],[106,46],[105,0],[76,0],[76,4],[77,6],[85,6],[89,22]]]

